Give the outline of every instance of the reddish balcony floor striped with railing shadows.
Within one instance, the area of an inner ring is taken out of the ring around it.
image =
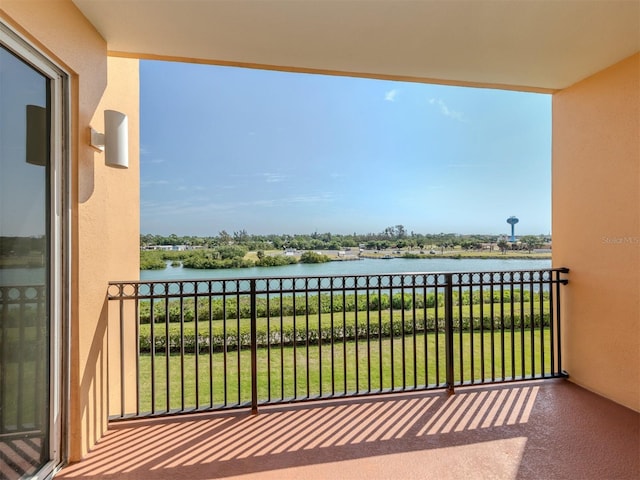
[[[637,479],[640,414],[568,381],[112,423],[57,479]]]

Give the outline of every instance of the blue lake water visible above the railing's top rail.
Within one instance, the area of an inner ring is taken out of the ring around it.
[[[375,275],[408,272],[495,272],[503,270],[541,270],[551,268],[551,260],[478,258],[392,258],[327,263],[298,263],[282,267],[252,267],[218,270],[171,267],[142,270],[140,280],[196,280],[243,277],[293,277],[331,275]],[[122,279],[114,279],[122,280]]]

